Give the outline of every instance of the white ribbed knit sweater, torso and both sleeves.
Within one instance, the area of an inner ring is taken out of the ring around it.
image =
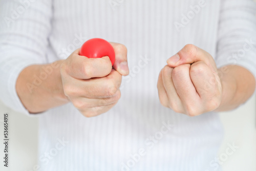
[[[212,162],[223,134],[218,114],[177,114],[161,106],[156,87],[166,59],[186,44],[209,52],[218,67],[256,74],[255,4],[202,2],[0,1],[0,99],[16,111],[28,114],[15,91],[25,67],[65,59],[93,37],[128,49],[130,75],[112,110],[86,118],[69,103],[40,115],[39,170],[220,170]]]

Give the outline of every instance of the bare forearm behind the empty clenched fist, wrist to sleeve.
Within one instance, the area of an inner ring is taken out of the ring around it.
[[[218,112],[229,111],[244,103],[254,92],[254,76],[240,66],[218,69],[222,84],[222,101]]]

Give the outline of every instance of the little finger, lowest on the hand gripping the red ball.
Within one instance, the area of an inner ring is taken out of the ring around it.
[[[114,105],[116,105],[116,103],[117,102],[113,104],[105,105],[105,106],[97,106],[95,108],[88,108],[88,109],[79,110],[79,111],[83,114],[83,116],[94,117],[94,116],[103,114],[105,112],[108,112],[110,109],[114,107]]]

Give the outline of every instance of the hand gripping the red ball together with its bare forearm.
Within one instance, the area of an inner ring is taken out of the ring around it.
[[[16,82],[17,94],[30,113],[40,113],[72,102],[86,117],[97,116],[109,111],[119,100],[122,75],[128,75],[127,49],[111,42],[116,54],[113,65],[108,56],[87,58],[79,56],[79,49],[66,60],[48,65],[33,65],[25,68]],[[36,88],[33,75],[39,76],[43,68],[51,67],[53,72]]]

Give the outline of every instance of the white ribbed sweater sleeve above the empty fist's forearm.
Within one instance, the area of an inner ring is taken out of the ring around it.
[[[252,0],[221,3],[217,67],[238,65],[256,77],[256,4]]]

